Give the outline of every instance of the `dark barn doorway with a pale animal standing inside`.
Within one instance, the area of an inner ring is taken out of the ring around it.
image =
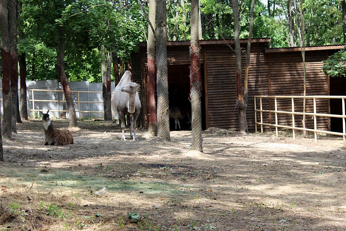
[[[168,65],[168,94],[169,106],[172,110],[179,108],[182,118],[180,121],[180,129],[177,125],[175,128],[175,119],[170,118],[170,131],[175,130],[191,130],[191,103],[190,96],[190,64]],[[203,64],[201,64],[203,67]],[[201,96],[201,112],[202,112],[202,130],[206,130],[205,116],[205,94],[204,94],[204,70],[201,70],[202,76],[202,96]]]

